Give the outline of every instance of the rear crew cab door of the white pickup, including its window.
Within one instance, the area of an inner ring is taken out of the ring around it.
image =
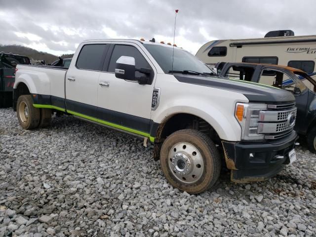
[[[108,44],[104,43],[88,43],[81,46],[77,60],[71,63],[66,74],[68,112],[96,117],[98,81],[107,50]]]

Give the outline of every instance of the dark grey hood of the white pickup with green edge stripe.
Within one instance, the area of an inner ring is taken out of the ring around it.
[[[294,95],[286,90],[269,85],[249,82],[239,79],[226,79],[216,77],[203,77],[195,75],[173,75],[178,81],[208,86],[222,90],[233,91],[243,94],[249,102],[282,103],[295,102]]]

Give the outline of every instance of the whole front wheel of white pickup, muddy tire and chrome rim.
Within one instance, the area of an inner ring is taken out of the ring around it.
[[[160,165],[173,187],[197,194],[216,183],[221,171],[221,158],[206,134],[183,129],[172,133],[163,142]]]

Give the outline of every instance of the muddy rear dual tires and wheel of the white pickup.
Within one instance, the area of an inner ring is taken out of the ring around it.
[[[31,95],[19,96],[16,114],[21,127],[24,129],[33,129],[40,124],[40,109],[33,106]]]

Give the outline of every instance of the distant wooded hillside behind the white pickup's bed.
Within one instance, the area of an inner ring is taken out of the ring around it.
[[[45,60],[46,64],[50,64],[53,61],[58,59],[58,56],[46,53],[46,52],[40,52],[38,50],[35,50],[33,48],[25,47],[22,45],[2,45],[0,44],[0,52],[5,53],[13,53],[13,54],[19,54],[28,56],[32,62],[34,63],[37,60]],[[74,54],[63,54],[61,55],[62,58],[72,58]]]

